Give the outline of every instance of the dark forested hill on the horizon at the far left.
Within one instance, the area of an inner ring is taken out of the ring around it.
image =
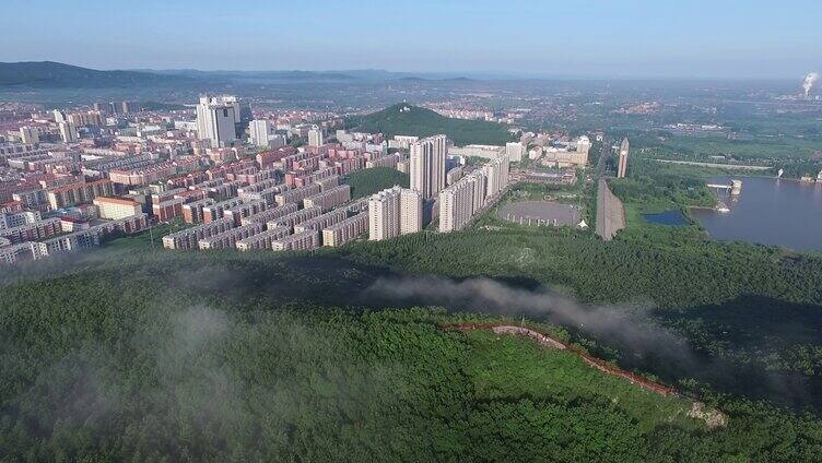
[[[97,71],[54,61],[0,62],[0,86],[106,88],[185,83],[188,79],[137,71]]]

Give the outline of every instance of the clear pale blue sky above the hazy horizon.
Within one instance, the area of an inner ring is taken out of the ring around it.
[[[0,61],[800,78],[822,1],[2,0]]]

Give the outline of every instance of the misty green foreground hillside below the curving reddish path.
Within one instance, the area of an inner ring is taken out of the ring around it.
[[[0,287],[10,461],[797,462],[820,448],[815,418],[728,403],[709,429],[691,400],[573,354],[438,327],[456,316],[334,308],[374,278],[340,260],[60,263]]]

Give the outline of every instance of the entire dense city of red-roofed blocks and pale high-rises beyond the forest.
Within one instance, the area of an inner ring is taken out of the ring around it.
[[[163,246],[181,250],[336,247],[418,233],[437,217],[450,232],[494,201],[509,162],[527,156],[522,142],[454,147],[446,135],[386,140],[333,130],[339,122],[255,115],[232,95],[169,110],[95,103],[4,122],[0,261],[87,249],[171,222],[185,225]],[[477,154],[488,162],[463,165]],[[352,201],[342,180],[374,167],[409,174],[410,188]]]

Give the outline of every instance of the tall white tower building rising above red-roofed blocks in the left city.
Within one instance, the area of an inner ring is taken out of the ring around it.
[[[197,136],[209,140],[212,147],[227,147],[237,140],[237,112],[239,103],[236,97],[200,96],[197,105]]]

